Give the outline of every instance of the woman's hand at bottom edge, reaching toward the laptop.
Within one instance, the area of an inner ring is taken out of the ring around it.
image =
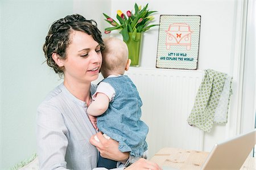
[[[151,162],[150,160],[141,158],[137,162],[125,168],[125,170],[135,170],[135,169],[160,170],[162,168],[160,168],[158,164]]]

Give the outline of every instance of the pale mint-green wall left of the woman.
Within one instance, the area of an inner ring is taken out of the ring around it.
[[[49,25],[72,14],[72,5],[72,1],[0,1],[0,169],[10,169],[36,153],[36,108],[60,83],[43,63],[42,46]]]

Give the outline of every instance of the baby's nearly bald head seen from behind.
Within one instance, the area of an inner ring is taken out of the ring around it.
[[[110,74],[124,74],[130,66],[128,48],[120,39],[109,37],[104,39],[105,49],[102,52],[101,74],[106,78]]]

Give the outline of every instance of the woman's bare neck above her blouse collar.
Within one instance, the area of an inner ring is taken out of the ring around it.
[[[68,89],[69,92],[77,99],[85,101],[87,105],[90,104],[91,97],[90,97],[90,82],[88,83],[74,83],[69,82],[68,80],[64,79],[64,86]]]

